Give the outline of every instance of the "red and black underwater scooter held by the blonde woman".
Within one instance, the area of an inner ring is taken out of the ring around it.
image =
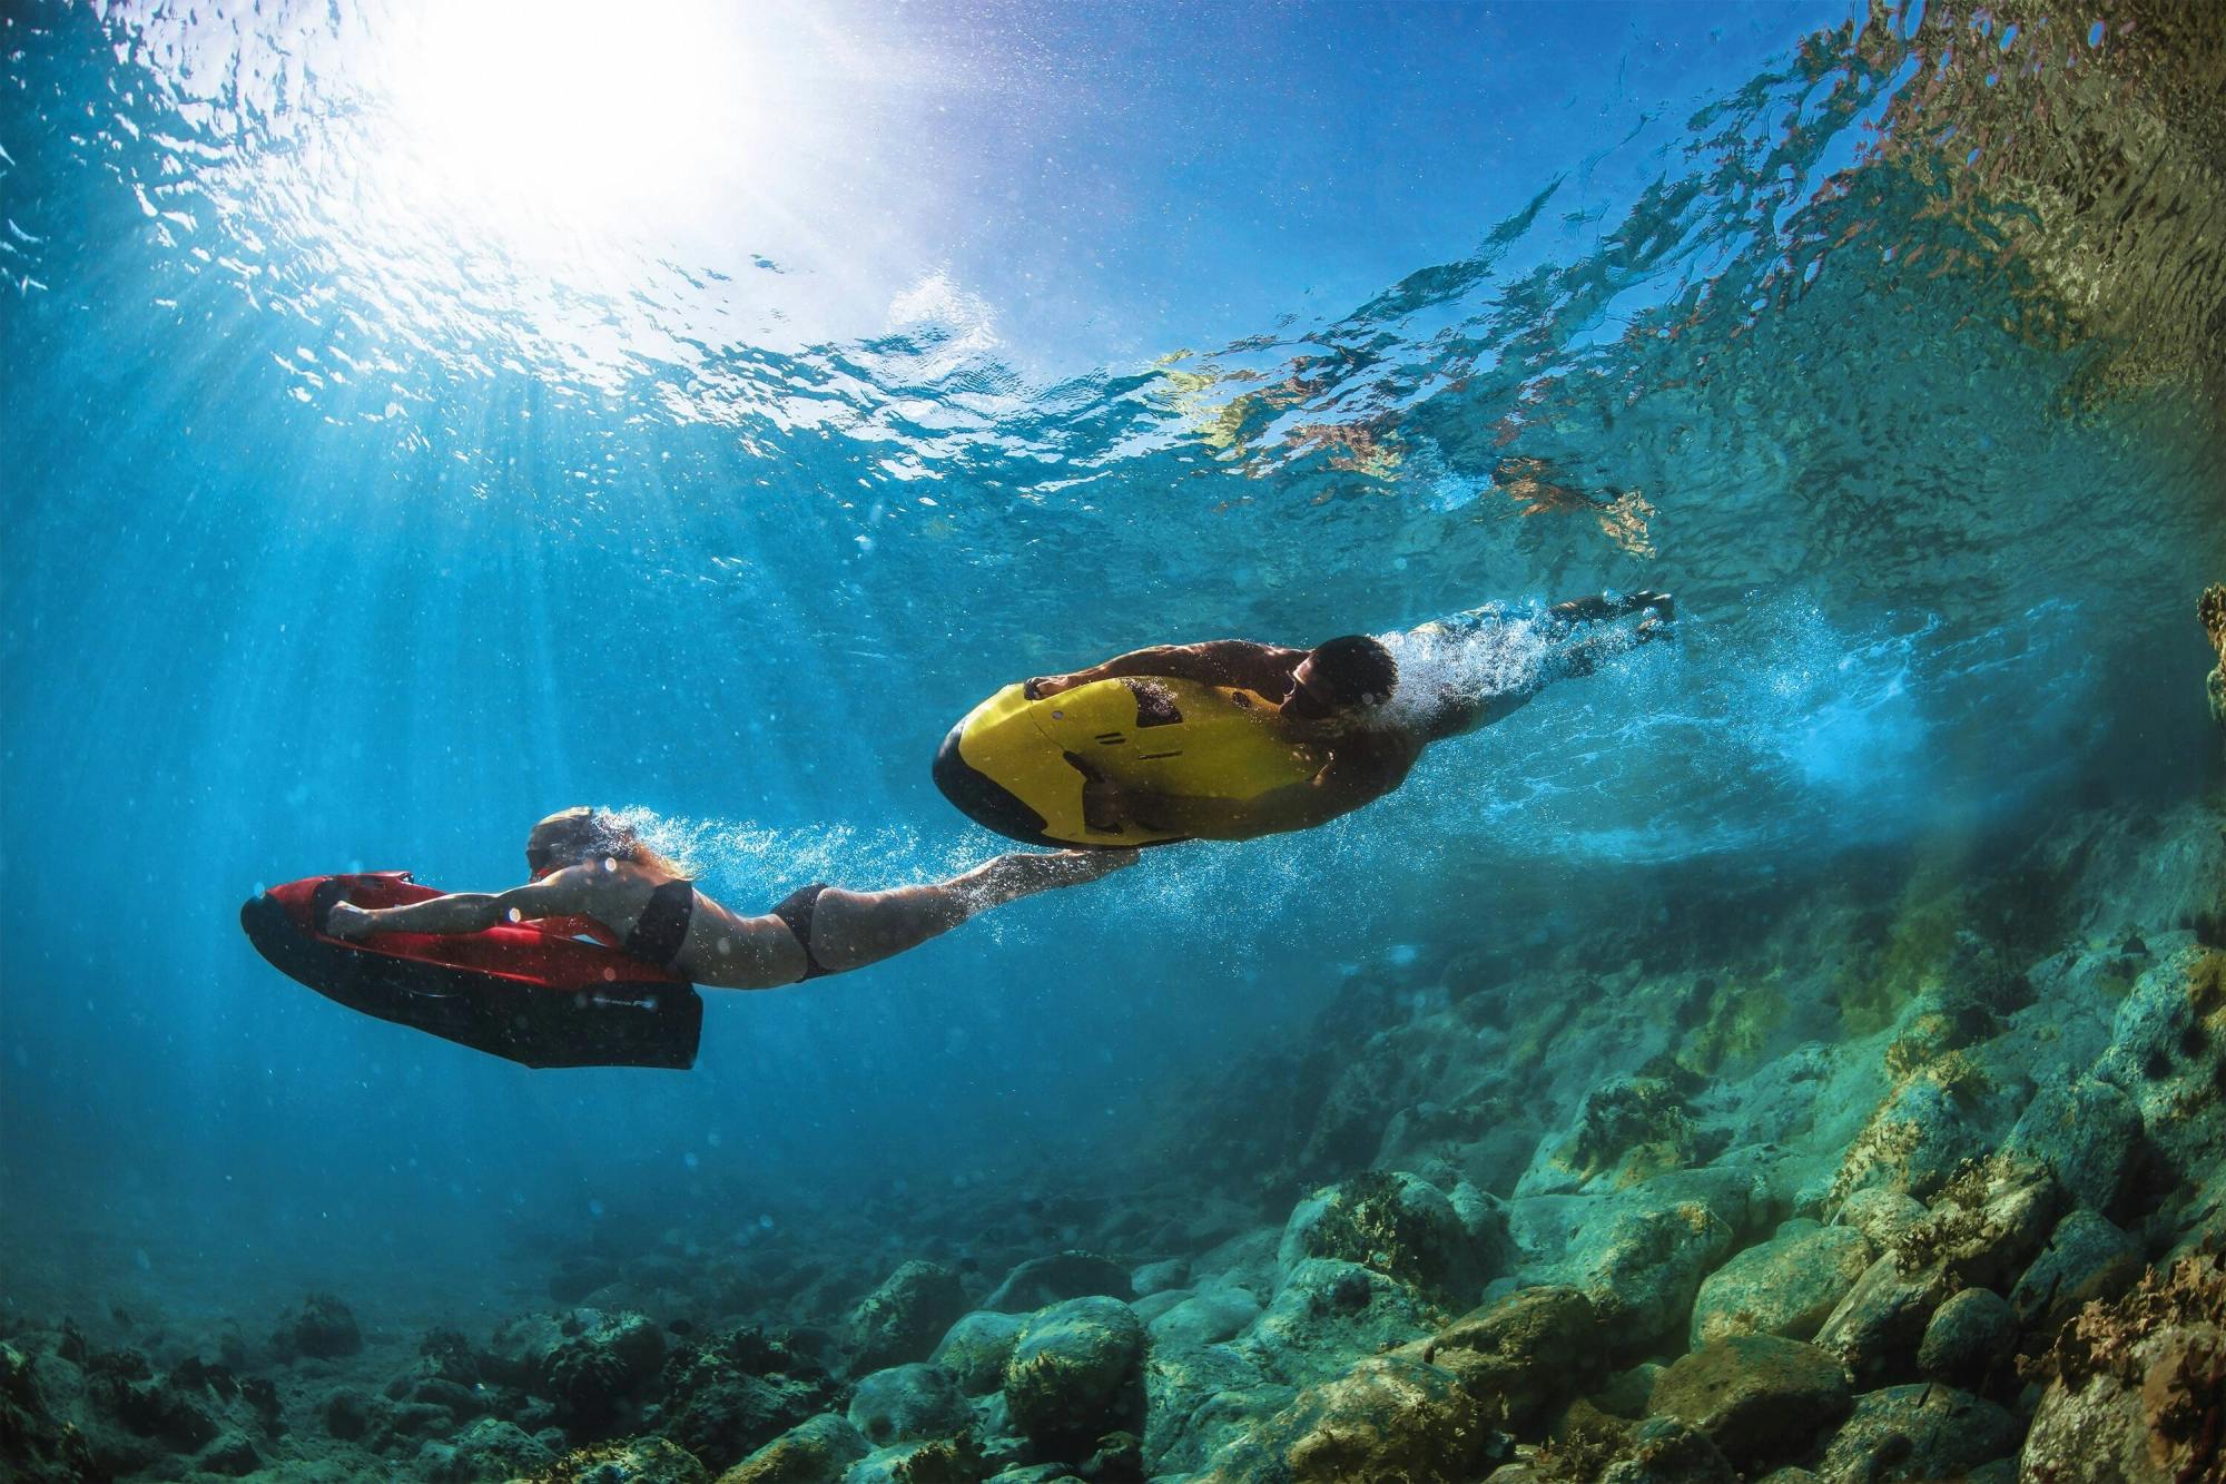
[[[505,922],[476,934],[325,931],[336,902],[403,907],[441,896],[410,871],[309,876],[240,907],[272,965],[381,1021],[525,1067],[695,1065],[703,1000],[686,978],[614,947]]]

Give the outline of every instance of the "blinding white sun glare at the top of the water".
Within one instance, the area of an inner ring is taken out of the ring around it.
[[[686,234],[772,140],[750,11],[712,0],[459,0],[396,31],[387,105],[414,196],[539,234]]]

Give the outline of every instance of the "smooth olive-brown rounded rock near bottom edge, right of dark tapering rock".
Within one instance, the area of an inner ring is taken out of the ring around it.
[[[1848,1408],[1839,1359],[1776,1335],[1716,1339],[1672,1361],[1649,1402],[1656,1417],[1692,1424],[1743,1471],[1805,1453]]]

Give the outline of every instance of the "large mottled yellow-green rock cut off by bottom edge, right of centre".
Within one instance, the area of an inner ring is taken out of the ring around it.
[[[1491,1437],[1449,1373],[1382,1355],[1298,1393],[1198,1484],[1465,1484],[1483,1473]]]

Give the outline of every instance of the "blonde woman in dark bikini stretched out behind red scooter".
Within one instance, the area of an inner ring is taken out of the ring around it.
[[[341,902],[327,931],[334,938],[476,934],[503,920],[536,920],[610,943],[697,985],[772,989],[861,969],[988,907],[1131,865],[1135,851],[1013,853],[926,887],[844,891],[815,882],[768,916],[746,918],[697,891],[674,862],[608,809],[563,809],[525,838],[528,885],[501,894],[456,891],[407,907]]]

